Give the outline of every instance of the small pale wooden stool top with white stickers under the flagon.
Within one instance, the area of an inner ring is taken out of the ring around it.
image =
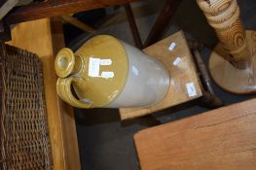
[[[173,51],[168,48],[171,43],[175,43],[176,47]],[[165,98],[155,106],[139,109],[120,109],[121,119],[133,119],[154,112],[164,110],[166,108],[191,101],[202,95],[202,87],[200,78],[188,48],[184,33],[179,31],[164,40],[154,44],[144,50],[147,54],[158,58],[165,63],[170,75],[170,86]],[[174,65],[173,61],[180,57],[181,61]],[[197,95],[190,97],[188,95],[187,84],[194,83]]]

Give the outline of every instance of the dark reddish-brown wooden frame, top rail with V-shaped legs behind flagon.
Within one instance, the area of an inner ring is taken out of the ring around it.
[[[44,17],[56,17],[56,16],[66,16],[72,13],[78,13],[82,11],[88,11],[92,9],[105,8],[113,5],[124,5],[126,14],[128,16],[129,26],[132,32],[132,36],[134,42],[139,49],[143,49],[143,44],[139,36],[139,32],[136,26],[136,22],[134,16],[132,14],[132,10],[129,6],[129,3],[135,2],[138,0],[99,0],[99,1],[90,1],[90,0],[71,0],[71,1],[55,1],[48,0],[44,2],[32,3],[24,7],[18,7],[15,11],[9,14],[4,18],[5,25],[11,25],[23,21],[34,20]],[[176,9],[182,0],[166,0],[165,6],[158,17],[155,25],[153,26],[150,34],[144,44],[144,47],[148,47],[149,45],[155,43],[160,37],[162,31],[165,29],[165,25],[170,17],[173,16]],[[74,21],[74,20],[73,20]],[[76,23],[79,20],[75,21]],[[85,28],[83,23],[78,23],[79,27],[82,29]],[[88,30],[88,27],[86,27]],[[4,29],[0,32],[0,39],[6,41],[8,38],[11,39],[8,29]],[[3,37],[4,36],[4,37]],[[3,37],[3,38],[2,38]]]

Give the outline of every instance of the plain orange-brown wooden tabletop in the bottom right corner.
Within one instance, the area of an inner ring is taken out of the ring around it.
[[[255,170],[256,99],[142,130],[134,140],[142,170]]]

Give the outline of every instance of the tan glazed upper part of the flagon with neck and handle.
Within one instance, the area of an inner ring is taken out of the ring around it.
[[[126,84],[128,57],[116,38],[95,36],[75,53],[67,48],[59,51],[55,72],[61,99],[78,108],[104,107],[116,99]]]

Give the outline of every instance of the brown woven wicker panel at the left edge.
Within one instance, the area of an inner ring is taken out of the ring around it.
[[[52,169],[39,58],[1,44],[0,59],[1,169]]]

